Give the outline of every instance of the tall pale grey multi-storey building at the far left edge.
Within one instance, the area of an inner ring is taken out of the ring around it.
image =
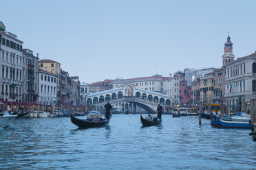
[[[22,45],[17,36],[6,32],[0,22],[1,101],[21,102],[22,99]]]

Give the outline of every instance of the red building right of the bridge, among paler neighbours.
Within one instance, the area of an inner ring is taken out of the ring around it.
[[[180,95],[180,106],[190,106],[191,101],[191,86],[186,86],[186,80],[180,81],[179,95]]]

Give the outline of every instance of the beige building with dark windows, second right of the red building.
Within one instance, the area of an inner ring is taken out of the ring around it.
[[[200,102],[201,105],[213,102],[213,86],[215,80],[213,72],[205,74],[200,78]]]

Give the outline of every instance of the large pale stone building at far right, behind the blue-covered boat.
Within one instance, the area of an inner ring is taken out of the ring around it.
[[[256,99],[256,51],[226,64],[226,104],[247,109],[251,99]]]

